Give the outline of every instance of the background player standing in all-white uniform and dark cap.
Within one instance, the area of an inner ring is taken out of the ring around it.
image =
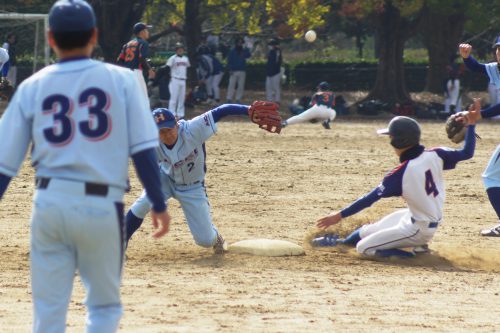
[[[170,67],[170,101],[168,108],[177,119],[184,118],[184,102],[186,98],[187,69],[191,64],[184,55],[184,45],[175,44],[175,54],[168,58],[167,66]]]

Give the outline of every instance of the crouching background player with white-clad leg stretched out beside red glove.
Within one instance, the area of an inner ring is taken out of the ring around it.
[[[333,109],[335,98],[330,91],[328,82],[321,82],[317,90],[311,99],[312,106],[299,115],[285,120],[281,124],[281,127],[318,119],[322,121],[321,124],[325,129],[330,129],[330,122],[337,116],[337,113]]]

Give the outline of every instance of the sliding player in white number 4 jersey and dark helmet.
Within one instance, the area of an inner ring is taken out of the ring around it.
[[[468,127],[465,145],[461,150],[426,150],[420,145],[420,127],[415,120],[408,117],[393,118],[389,127],[378,133],[390,136],[391,145],[401,164],[389,172],[371,192],[347,208],[319,219],[317,226],[327,228],[339,223],[380,198],[401,196],[408,208],[395,211],[376,223],[364,225],[346,239],[341,240],[337,235],[329,234],[313,240],[313,245],[354,245],[361,254],[381,257],[412,257],[415,252],[403,248],[426,249],[442,223],[445,200],[443,170],[454,169],[459,161],[472,158],[476,143],[474,127],[472,123]]]

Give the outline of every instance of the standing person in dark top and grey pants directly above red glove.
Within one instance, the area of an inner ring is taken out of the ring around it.
[[[269,53],[267,54],[266,65],[266,98],[270,102],[280,103],[281,93],[281,64],[283,57],[279,40],[273,38],[268,43]]]

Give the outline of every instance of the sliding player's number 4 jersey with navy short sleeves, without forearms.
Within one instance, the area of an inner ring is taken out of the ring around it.
[[[445,184],[443,170],[458,163],[456,150],[425,150],[389,172],[377,188],[380,197],[401,196],[417,221],[438,222],[443,217]]]

